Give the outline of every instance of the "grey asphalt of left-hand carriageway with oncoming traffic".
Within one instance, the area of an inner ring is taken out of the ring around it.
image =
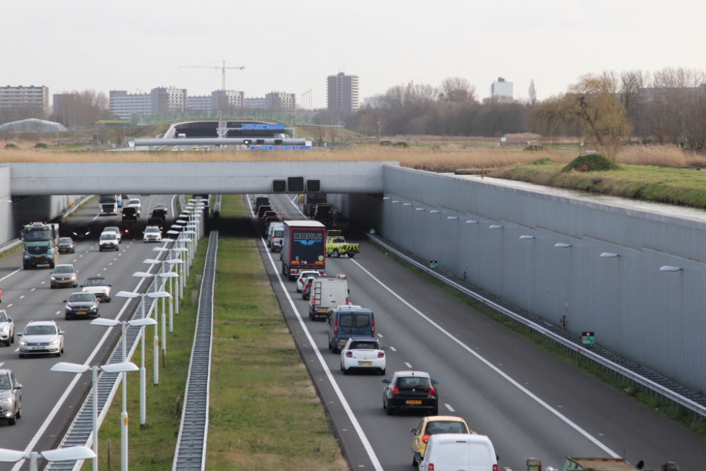
[[[76,254],[62,254],[61,263],[73,263],[79,271],[79,284],[85,278],[97,275],[104,276],[112,284],[112,302],[101,304],[103,318],[128,318],[138,302],[129,302],[114,295],[121,290],[146,290],[150,280],[143,281],[142,278],[134,278],[132,274],[136,271],[155,271],[155,268],[143,263],[145,258],[164,258],[152,251],[157,245],[143,244],[142,230],[147,215],[157,203],[167,204],[168,221],[171,221],[176,197],[131,195],[131,198],[141,200],[143,209],[138,222],[141,225],[138,226],[137,238],[124,238],[119,251],[98,251],[97,239],[102,227],[118,225],[121,217],[99,217],[97,200],[76,213],[59,229],[62,236],[70,235],[76,225],[89,225],[91,229],[90,239],[77,242]],[[31,445],[32,450],[42,451],[56,446],[64,429],[68,427],[73,411],[80,405],[90,387],[90,373],[76,376],[49,369],[58,362],[84,364],[90,361],[90,364],[102,364],[119,339],[119,328],[90,326],[89,321],[83,320],[66,321],[63,301],[81,288],[51,290],[49,271],[47,267],[23,270],[21,251],[0,259],[0,285],[3,288],[0,306],[13,318],[16,332],[22,332],[28,321],[37,320],[55,320],[65,332],[65,352],[61,358],[40,356],[19,359],[16,351],[19,341],[17,337],[10,347],[0,347],[0,368],[11,369],[23,385],[22,418],[14,426],[0,421],[2,448],[25,450]],[[133,413],[137,414],[137,411]],[[27,468],[28,464],[25,463],[23,469]],[[0,471],[11,469],[16,468],[10,463],[0,463]]]

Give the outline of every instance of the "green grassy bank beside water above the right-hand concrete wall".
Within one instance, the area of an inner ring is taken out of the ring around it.
[[[489,177],[590,191],[610,196],[706,208],[706,172],[621,165],[605,172],[562,172],[563,165],[517,165]]]

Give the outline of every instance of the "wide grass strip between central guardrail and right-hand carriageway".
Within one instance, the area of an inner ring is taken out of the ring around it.
[[[220,213],[208,470],[348,470],[240,195]]]

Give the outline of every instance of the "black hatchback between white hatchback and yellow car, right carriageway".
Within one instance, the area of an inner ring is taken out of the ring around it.
[[[383,379],[383,409],[388,415],[397,410],[421,410],[438,415],[439,395],[429,373],[424,371],[395,371],[391,379]]]

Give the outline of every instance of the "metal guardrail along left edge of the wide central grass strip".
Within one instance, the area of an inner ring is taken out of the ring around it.
[[[220,201],[217,201],[217,205],[220,205]],[[172,464],[174,471],[203,471],[206,465],[213,341],[213,288],[217,251],[218,231],[212,230],[208,237],[208,250],[203,266],[196,314],[196,333],[193,335],[189,376],[186,378],[184,393],[184,410],[181,412],[179,436]]]

